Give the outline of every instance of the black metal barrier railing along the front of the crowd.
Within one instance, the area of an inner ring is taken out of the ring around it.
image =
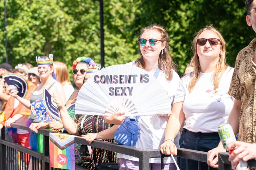
[[[11,124],[13,128],[19,128],[23,130],[28,130],[28,127],[13,123]],[[4,128],[1,129],[1,139],[0,139],[0,169],[1,170],[26,170],[28,169],[29,159],[32,160],[32,169],[35,170],[55,170],[55,168],[50,167],[50,157],[49,157],[49,133],[53,132],[47,129],[39,130],[38,133],[44,135],[44,151],[39,153],[32,149],[28,149],[16,143],[8,142],[5,139]],[[170,155],[161,154],[159,149],[145,150],[139,148],[133,148],[129,146],[118,145],[114,143],[104,142],[101,140],[95,140],[93,143],[89,144],[82,137],[75,136],[75,142],[83,145],[90,145],[93,147],[114,151],[130,156],[139,158],[139,170],[149,170],[149,158],[161,157],[163,161],[164,157]],[[189,163],[188,159],[193,159],[198,162],[198,167],[200,167],[201,162],[207,162],[207,152],[201,152],[190,149],[178,148],[178,164],[179,158],[187,159],[187,165]],[[256,161],[250,160],[248,164],[251,168],[256,168]],[[31,167],[30,167],[31,169]],[[208,168],[212,169],[211,167]],[[219,170],[230,170],[231,164],[228,161],[228,153],[219,154]],[[76,165],[76,170],[84,170],[84,168]],[[188,170],[188,167],[187,167]],[[200,168],[199,168],[200,170]]]

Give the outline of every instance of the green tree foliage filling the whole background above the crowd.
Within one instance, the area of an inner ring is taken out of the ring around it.
[[[193,35],[213,24],[227,43],[227,62],[234,66],[239,50],[255,36],[245,21],[241,0],[105,0],[105,66],[135,60],[140,29],[152,23],[165,26],[171,55],[182,73],[193,53]],[[35,56],[54,54],[71,70],[77,57],[100,63],[99,2],[97,0],[6,0],[8,56],[12,65]],[[5,62],[4,3],[0,3],[0,62]]]

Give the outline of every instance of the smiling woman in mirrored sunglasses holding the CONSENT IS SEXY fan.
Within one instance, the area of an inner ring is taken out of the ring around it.
[[[176,89],[180,82],[178,74],[175,72],[176,66],[170,56],[170,47],[168,45],[170,38],[166,30],[152,24],[141,30],[139,37],[139,47],[141,58],[135,62],[128,63],[140,67],[154,75],[161,85],[165,88],[170,98],[170,105],[173,103]],[[156,73],[159,72],[157,75]],[[105,119],[108,123],[122,123],[120,113],[108,116]],[[164,142],[165,127],[168,121],[168,115],[150,115],[140,116],[138,119],[140,135],[134,147],[141,149],[159,149],[160,144]],[[118,125],[99,133],[89,133],[85,139],[91,143],[94,139],[112,139]],[[179,134],[175,139],[178,145]],[[119,169],[139,169],[138,158],[118,154]],[[161,169],[160,158],[150,158],[151,169]],[[176,169],[174,161],[170,157],[164,159],[164,169]]]

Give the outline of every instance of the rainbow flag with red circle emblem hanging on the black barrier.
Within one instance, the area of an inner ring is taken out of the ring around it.
[[[75,170],[74,136],[50,133],[50,166]]]

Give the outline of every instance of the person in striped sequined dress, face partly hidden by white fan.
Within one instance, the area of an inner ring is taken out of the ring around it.
[[[80,65],[77,65],[76,68],[80,68]],[[100,69],[99,66],[96,66],[96,65],[90,66],[89,69],[86,71],[84,82],[88,78],[90,78],[90,76],[92,76],[97,71],[99,71],[99,69]],[[81,88],[81,86],[82,84],[79,86],[79,89]],[[68,110],[66,109],[67,107],[65,108],[57,98],[54,99],[54,102],[58,105],[63,126],[68,131],[69,134],[85,135],[91,132],[97,133],[111,127],[111,124],[106,123],[103,116],[77,115],[76,119],[72,120],[72,117],[68,116]],[[107,140],[107,141],[114,143],[113,139]],[[80,148],[80,153],[83,153],[83,154],[80,154],[80,157],[82,160],[82,164],[80,166],[90,170],[94,169],[93,162],[91,161],[87,146],[82,145]],[[107,151],[104,149],[93,147],[92,155],[93,155],[93,161],[95,165],[117,161],[116,159],[117,156],[115,152]]]

